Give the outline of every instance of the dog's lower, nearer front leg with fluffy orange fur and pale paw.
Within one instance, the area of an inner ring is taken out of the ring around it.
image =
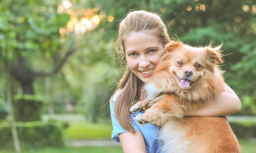
[[[144,114],[138,115],[135,120],[139,124],[153,123],[162,126],[167,120],[175,118],[182,119],[183,109],[174,95],[168,95],[148,108]]]

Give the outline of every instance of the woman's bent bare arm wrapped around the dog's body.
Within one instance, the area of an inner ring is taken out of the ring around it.
[[[223,116],[241,110],[241,101],[237,94],[225,84],[224,90],[215,102],[205,105],[193,112],[185,113],[186,116]]]

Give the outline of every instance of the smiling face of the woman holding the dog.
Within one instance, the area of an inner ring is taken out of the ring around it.
[[[123,41],[127,65],[143,82],[148,82],[163,54],[163,43],[153,32],[131,32]]]

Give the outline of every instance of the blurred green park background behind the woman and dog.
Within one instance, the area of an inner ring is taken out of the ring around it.
[[[114,43],[140,9],[173,39],[223,43],[225,81],[242,101],[228,119],[243,152],[256,152],[255,0],[0,1],[0,152],[122,152],[109,115],[124,70]]]

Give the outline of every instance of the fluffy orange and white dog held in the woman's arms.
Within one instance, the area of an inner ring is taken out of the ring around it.
[[[135,118],[139,124],[162,126],[158,136],[163,141],[162,151],[241,152],[225,116],[184,116],[184,112],[214,102],[223,91],[221,47],[169,42],[152,79],[144,85],[146,98],[130,108],[130,112],[144,108],[145,113]]]

